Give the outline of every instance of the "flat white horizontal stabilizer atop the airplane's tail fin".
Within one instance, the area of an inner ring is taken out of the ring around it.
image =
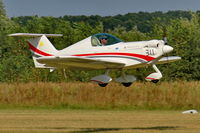
[[[37,33],[14,33],[14,34],[10,34],[8,36],[40,37],[43,35],[45,35],[46,37],[61,37],[61,36],[63,36],[62,34],[37,34]]]

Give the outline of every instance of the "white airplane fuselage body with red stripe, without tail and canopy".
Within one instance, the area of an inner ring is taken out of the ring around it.
[[[146,65],[163,55],[163,40],[119,42],[108,46],[92,46],[91,37],[77,42],[57,53],[57,56],[79,56],[93,59],[117,61],[126,68]]]

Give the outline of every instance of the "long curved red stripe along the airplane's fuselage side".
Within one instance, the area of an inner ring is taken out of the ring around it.
[[[155,59],[154,57],[151,57],[151,56],[132,54],[132,53],[93,53],[93,54],[77,54],[74,56],[95,56],[95,55],[123,55],[123,56],[131,56],[131,57],[140,58],[146,61],[151,61]]]

